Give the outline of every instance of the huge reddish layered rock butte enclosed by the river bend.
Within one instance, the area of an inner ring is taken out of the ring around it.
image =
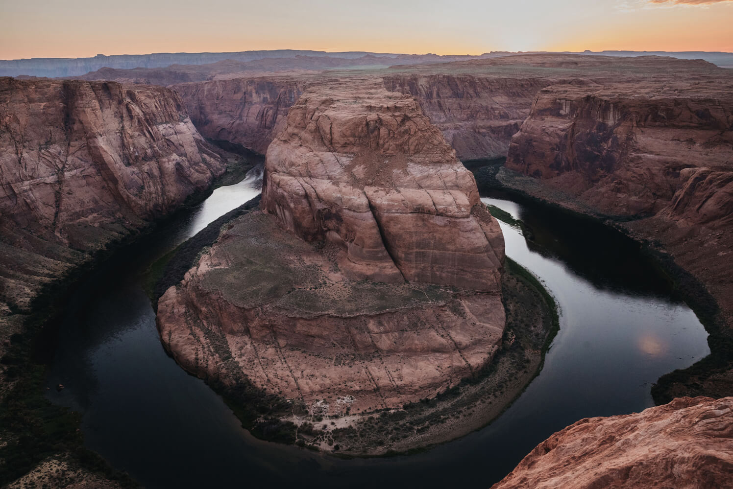
[[[432,397],[496,353],[501,229],[411,97],[306,90],[268,149],[262,207],[158,302],[188,370],[358,412]]]

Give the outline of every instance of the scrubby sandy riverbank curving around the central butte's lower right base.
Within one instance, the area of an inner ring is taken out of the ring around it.
[[[293,417],[296,443],[342,457],[421,452],[479,430],[507,410],[535,378],[559,330],[555,301],[537,278],[507,258],[502,283],[507,328],[493,361],[433,399],[359,419]]]

